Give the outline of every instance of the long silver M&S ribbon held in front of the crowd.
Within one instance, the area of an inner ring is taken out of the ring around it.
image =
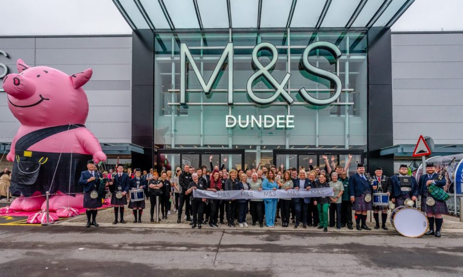
[[[332,188],[319,188],[310,190],[276,190],[276,191],[213,191],[193,190],[194,198],[209,199],[275,199],[275,198],[307,198],[333,196]]]

